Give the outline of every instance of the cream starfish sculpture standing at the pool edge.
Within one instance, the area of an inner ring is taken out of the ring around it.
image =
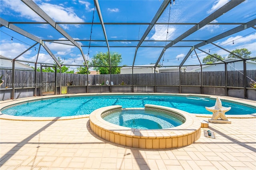
[[[215,106],[205,107],[206,110],[212,112],[212,120],[217,120],[218,118],[228,121],[225,113],[231,109],[231,107],[223,107],[220,99],[217,97]]]

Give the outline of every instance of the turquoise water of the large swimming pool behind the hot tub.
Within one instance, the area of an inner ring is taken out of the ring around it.
[[[173,107],[196,114],[212,114],[205,107],[215,105],[216,99],[207,97],[178,95],[88,95],[78,97],[61,97],[26,102],[21,105],[2,109],[7,115],[25,117],[63,117],[87,115],[92,111],[110,105],[123,108],[144,107],[145,104]],[[256,107],[246,107],[222,101],[222,106],[231,107],[226,115],[246,115],[256,113]]]

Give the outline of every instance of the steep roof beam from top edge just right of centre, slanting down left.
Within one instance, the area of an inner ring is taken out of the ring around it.
[[[168,6],[169,3],[170,3],[170,0],[164,0],[164,2],[161,4],[160,8],[156,12],[156,15],[154,16],[154,18],[150,22],[150,25],[148,26],[148,28],[144,32],[142,38],[140,39],[140,42],[138,43],[138,45],[137,45],[137,47],[135,49],[135,54],[134,54],[134,59],[133,59],[132,67],[134,66],[134,63],[135,63],[135,59],[136,59],[138,48],[140,47],[142,42],[145,40],[145,38],[148,36],[149,32],[151,31],[153,26],[156,24],[157,20],[160,18],[160,16],[162,15],[162,13],[164,12],[165,8]]]

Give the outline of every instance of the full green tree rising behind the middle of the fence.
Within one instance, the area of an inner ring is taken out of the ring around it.
[[[119,74],[120,67],[117,66],[119,66],[122,62],[122,55],[117,52],[110,52],[110,59],[112,65],[111,74]],[[110,66],[108,52],[99,52],[95,54],[92,57],[92,65],[97,66],[94,67],[94,70],[100,71],[100,74],[110,74],[110,67],[101,67]]]

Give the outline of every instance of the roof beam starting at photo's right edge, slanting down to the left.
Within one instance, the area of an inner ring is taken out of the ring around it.
[[[192,51],[192,50],[194,50],[194,49],[196,49],[196,48],[202,47],[202,46],[206,45],[207,43],[212,43],[212,42],[218,41],[218,40],[220,40],[220,39],[222,39],[222,38],[225,38],[225,37],[227,37],[227,36],[231,36],[232,34],[238,33],[238,32],[240,32],[240,31],[242,31],[242,30],[246,30],[247,28],[250,28],[250,27],[252,27],[252,26],[254,26],[254,25],[256,25],[256,19],[251,20],[251,21],[247,22],[247,23],[244,24],[244,25],[240,25],[240,26],[238,26],[238,27],[236,27],[236,28],[233,28],[233,29],[231,29],[231,30],[228,30],[228,31],[226,31],[226,32],[224,32],[224,33],[222,33],[222,34],[219,34],[219,35],[215,36],[215,37],[212,37],[212,38],[206,40],[205,42],[198,43],[198,44],[194,45],[194,46],[190,49],[190,51]],[[188,58],[188,56],[186,56],[186,57],[183,59],[183,61],[180,63],[180,65],[183,65],[187,58]]]

